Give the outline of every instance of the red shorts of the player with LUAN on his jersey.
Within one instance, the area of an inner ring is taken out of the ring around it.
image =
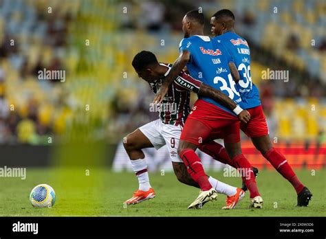
[[[213,139],[240,141],[240,122],[235,115],[204,100],[197,100],[188,115],[180,139],[197,146]]]

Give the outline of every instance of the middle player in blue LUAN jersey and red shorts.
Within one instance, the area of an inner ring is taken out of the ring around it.
[[[237,68],[223,45],[217,42],[213,43],[208,36],[204,36],[204,14],[198,10],[188,12],[182,20],[182,30],[184,39],[180,42],[180,57],[173,64],[169,74],[163,79],[162,87],[155,95],[154,102],[164,100],[169,85],[186,66],[191,76],[202,80],[210,87],[219,89],[233,101],[241,103],[240,95],[235,89],[235,82],[232,79]],[[217,197],[195,150],[207,141],[219,138],[224,139],[228,155],[235,166],[249,174],[243,179],[250,191],[250,206],[255,208],[263,206],[263,199],[257,189],[252,166],[241,152],[239,121],[236,117],[238,109],[241,107],[237,106],[232,112],[221,104],[201,95],[199,95],[199,100],[195,102],[182,130],[177,150],[178,155],[187,167],[188,173],[202,190],[188,208],[198,207]]]

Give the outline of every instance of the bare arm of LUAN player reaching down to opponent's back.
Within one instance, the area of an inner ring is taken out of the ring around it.
[[[164,96],[169,90],[169,86],[172,84],[173,80],[179,75],[180,71],[184,69],[190,60],[191,53],[184,50],[181,52],[179,58],[175,60],[169,74],[163,79],[163,84],[157,91],[155,98],[153,100],[154,104],[162,103]]]

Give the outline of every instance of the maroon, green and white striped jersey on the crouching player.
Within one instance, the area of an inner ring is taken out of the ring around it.
[[[172,64],[163,64],[168,67],[168,71],[164,74],[167,76],[171,70]],[[155,80],[155,82],[149,84],[154,93],[160,89],[162,85],[162,78]],[[166,93],[164,100],[160,107],[154,109],[159,111],[160,120],[164,124],[173,124],[175,126],[184,126],[186,118],[191,111],[190,107],[190,91],[195,93],[199,92],[202,82],[192,78],[186,72],[181,71],[179,76],[174,80],[173,84],[169,87],[168,93]]]

